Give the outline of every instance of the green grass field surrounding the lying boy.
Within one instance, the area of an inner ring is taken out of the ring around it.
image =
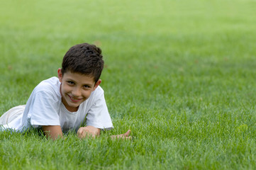
[[[0,2],[0,115],[89,42],[115,127],[0,132],[0,169],[256,169],[255,0]]]

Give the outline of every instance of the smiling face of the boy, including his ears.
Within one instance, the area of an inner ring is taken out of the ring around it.
[[[71,112],[77,111],[79,105],[101,84],[101,79],[95,84],[94,77],[84,74],[65,72],[63,75],[61,69],[57,73],[61,82],[62,103]]]

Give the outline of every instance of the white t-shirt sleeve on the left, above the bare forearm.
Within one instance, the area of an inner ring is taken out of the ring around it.
[[[60,125],[57,102],[48,91],[38,91],[35,94],[29,113],[33,128],[38,128],[40,125]]]

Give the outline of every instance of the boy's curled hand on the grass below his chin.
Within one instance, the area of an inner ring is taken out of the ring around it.
[[[93,126],[81,127],[77,131],[77,136],[81,139],[89,136],[96,137],[96,136],[99,136],[100,134],[101,134],[101,130]]]

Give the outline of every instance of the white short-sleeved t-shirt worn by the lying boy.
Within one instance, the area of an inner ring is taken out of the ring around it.
[[[80,104],[77,112],[69,112],[62,103],[60,81],[57,77],[40,82],[28,98],[22,112],[3,127],[19,132],[31,127],[40,128],[42,125],[60,125],[62,132],[77,131],[84,124],[101,130],[113,128],[104,98],[104,90],[100,86]]]

